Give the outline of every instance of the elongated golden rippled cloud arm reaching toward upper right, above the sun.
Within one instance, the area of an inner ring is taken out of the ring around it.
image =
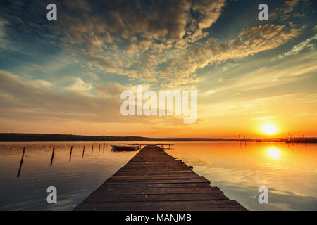
[[[242,31],[235,39],[219,44],[215,39],[205,39],[197,46],[187,49],[177,58],[169,58],[161,73],[169,77],[177,74],[173,85],[199,81],[195,78],[197,70],[206,65],[224,62],[232,58],[243,58],[255,53],[275,49],[290,39],[297,37],[302,30],[294,25],[260,25]],[[168,84],[168,82],[166,82]]]

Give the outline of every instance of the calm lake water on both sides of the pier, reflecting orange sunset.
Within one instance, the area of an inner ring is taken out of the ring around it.
[[[0,143],[0,210],[72,210],[137,153],[112,152],[110,144],[94,143],[92,150],[89,142]],[[174,144],[167,153],[248,210],[317,210],[317,145]],[[49,186],[57,188],[57,204],[46,202]],[[260,186],[268,188],[268,204],[258,201]]]

